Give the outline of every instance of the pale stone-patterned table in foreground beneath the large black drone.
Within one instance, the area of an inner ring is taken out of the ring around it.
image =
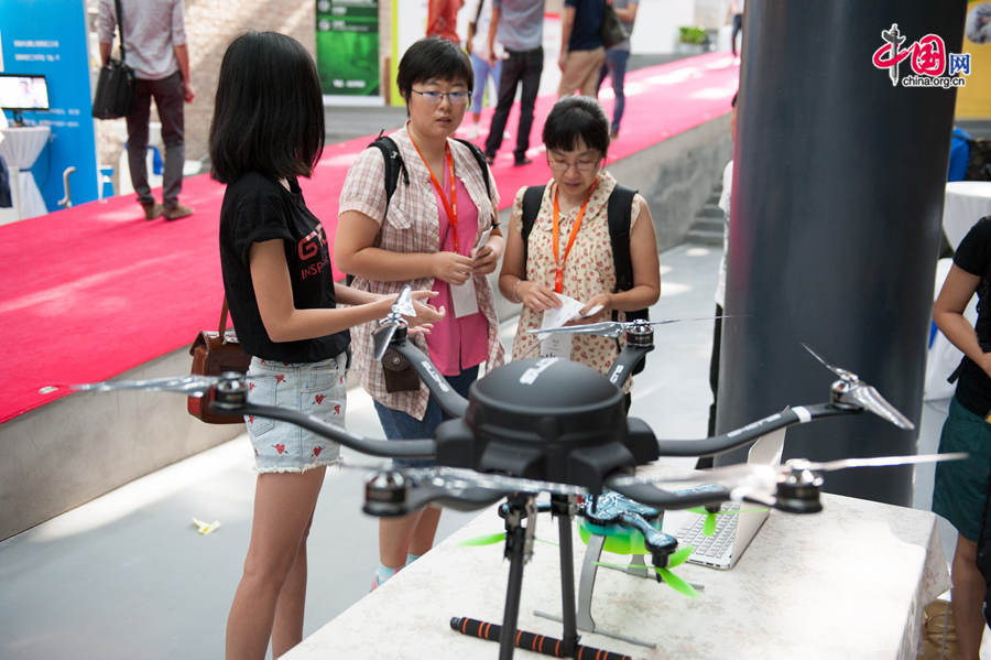
[[[818,515],[772,511],[732,571],[679,566],[678,575],[705,586],[698,599],[650,580],[599,571],[596,624],[656,647],[595,634],[581,634],[581,642],[635,658],[679,660],[915,658],[923,607],[949,588],[936,517],[834,495],[824,495],[823,504]],[[487,509],[285,658],[497,658],[496,642],[455,632],[449,620],[501,623],[509,567],[502,544],[457,542],[502,529],[494,508]],[[556,541],[556,531],[542,515],[537,538]],[[575,538],[580,566],[585,547],[577,530]],[[559,624],[533,614],[559,614],[559,584],[557,549],[535,543],[523,576],[521,629],[560,636]],[[515,657],[543,656],[516,649]]]

